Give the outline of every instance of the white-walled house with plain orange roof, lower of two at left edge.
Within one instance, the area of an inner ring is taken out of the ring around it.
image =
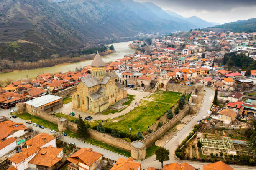
[[[11,150],[14,150],[15,147],[17,147],[17,144],[16,139],[13,137],[10,137],[3,142],[0,141],[0,157],[7,154]]]

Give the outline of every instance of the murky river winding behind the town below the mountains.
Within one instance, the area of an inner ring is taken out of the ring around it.
[[[126,54],[133,54],[135,50],[128,47],[130,43],[131,41],[108,44],[108,46],[113,45],[116,52],[110,55],[105,55],[103,57],[103,61],[105,62],[115,61],[118,58],[123,58],[123,56]],[[63,72],[68,72],[69,70],[74,71],[76,67],[83,68],[87,65],[90,65],[91,63],[92,63],[92,60],[87,60],[84,62],[77,62],[77,63],[67,64],[67,65],[58,65],[53,67],[37,68],[33,70],[28,70],[28,71],[24,70],[24,71],[18,71],[18,72],[2,73],[0,74],[0,80],[5,80],[6,78],[10,78],[13,80],[23,79],[26,77],[33,78],[39,74],[48,73],[48,72],[56,73],[58,71],[63,71]]]

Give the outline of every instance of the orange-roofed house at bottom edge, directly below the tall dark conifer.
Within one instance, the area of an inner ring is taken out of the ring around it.
[[[69,158],[68,170],[95,170],[103,159],[103,154],[92,151],[92,148],[81,148]]]

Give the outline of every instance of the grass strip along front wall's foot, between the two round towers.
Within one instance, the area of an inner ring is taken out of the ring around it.
[[[69,136],[72,136],[73,138],[79,138],[79,135],[77,133],[74,133],[74,132],[72,132],[70,130],[65,131],[65,133],[67,135],[69,135]],[[116,148],[114,146],[108,145],[106,143],[100,142],[100,141],[92,139],[92,138],[86,138],[85,142],[91,143],[92,145],[99,146],[100,148],[111,150],[111,151],[113,151],[115,153],[119,153],[119,154],[127,156],[127,157],[131,156],[131,154],[129,152],[125,151],[125,150],[121,150],[119,148]]]

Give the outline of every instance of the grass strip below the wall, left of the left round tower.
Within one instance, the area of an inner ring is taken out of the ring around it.
[[[24,120],[31,120],[33,123],[36,123],[38,125],[43,125],[46,128],[54,129],[54,130],[58,131],[58,125],[56,125],[52,122],[49,122],[47,120],[43,120],[39,117],[30,115],[28,113],[24,113],[24,114],[20,114],[20,115],[18,115],[17,113],[14,113],[13,115],[16,115],[17,117],[20,117],[21,119],[24,119]]]

